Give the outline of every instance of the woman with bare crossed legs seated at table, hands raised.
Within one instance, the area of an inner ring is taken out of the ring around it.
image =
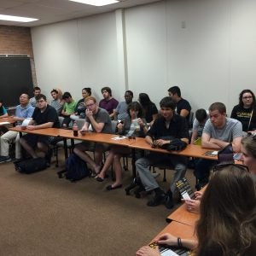
[[[118,133],[128,137],[145,137],[148,128],[146,120],[142,119],[143,109],[141,105],[138,102],[131,102],[127,112],[129,116],[124,119],[124,123],[119,123],[117,125]],[[112,146],[108,158],[102,167],[102,171],[96,177],[98,182],[102,182],[109,167],[113,164],[115,182],[107,187],[108,190],[119,189],[122,187],[122,166],[120,159],[125,154],[131,154],[131,149],[122,146]],[[139,154],[139,156],[137,155],[137,158],[141,157],[140,152],[137,152],[137,154]]]

